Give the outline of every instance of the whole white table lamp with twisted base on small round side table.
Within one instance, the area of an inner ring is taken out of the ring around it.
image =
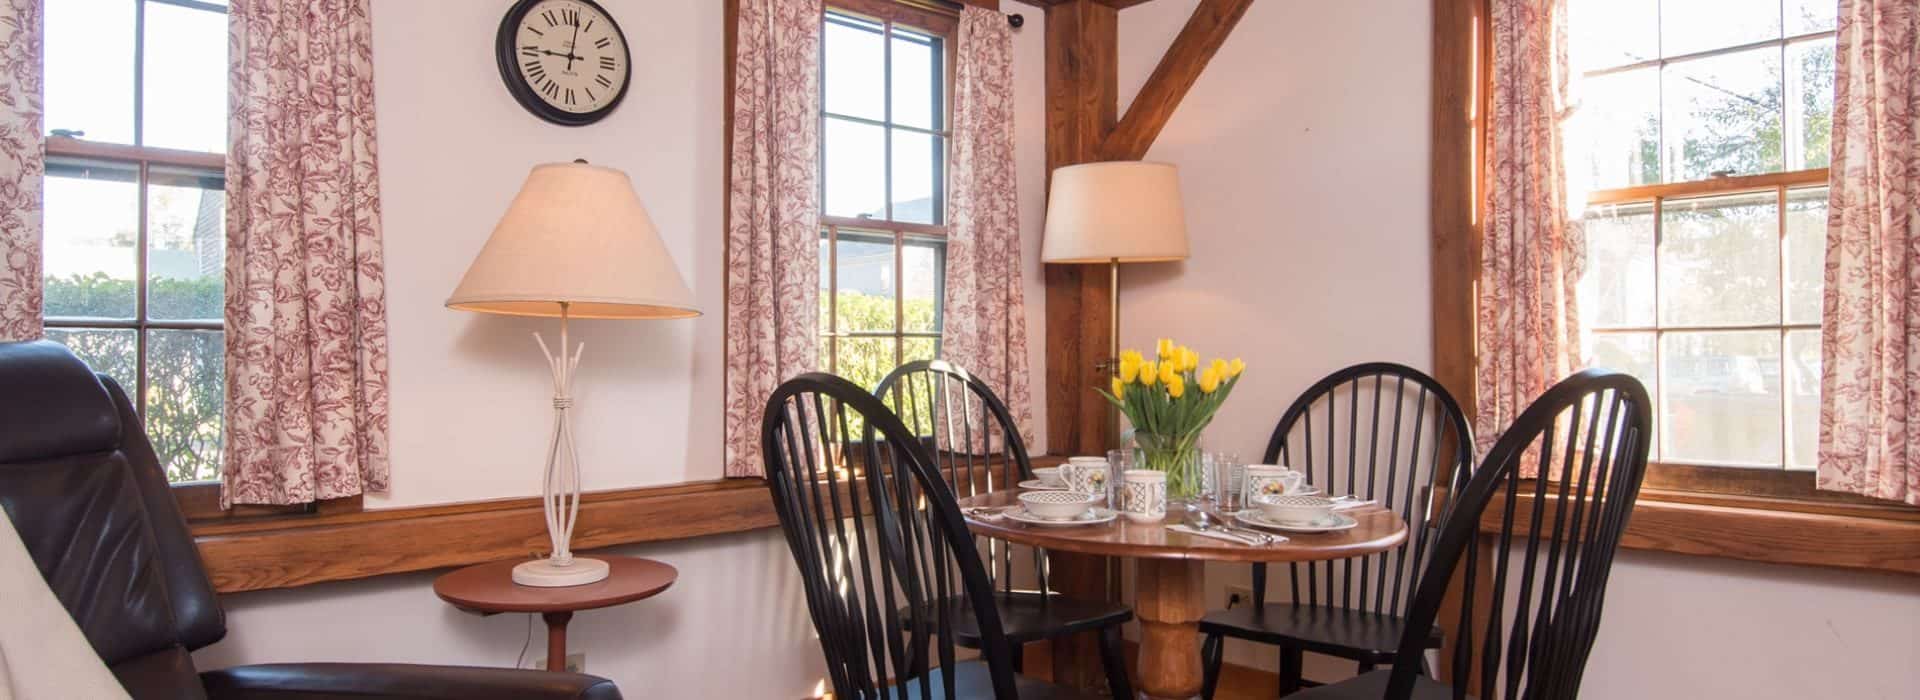
[[[586,343],[568,341],[566,322],[701,315],[634,182],[588,161],[536,165],[447,297],[447,309],[561,318],[559,349],[534,334],[553,372],[553,432],[541,487],[553,550],[515,566],[513,583],[563,587],[605,579],[607,562],[576,558],[570,548],[580,516],[580,453],[566,410]]]

